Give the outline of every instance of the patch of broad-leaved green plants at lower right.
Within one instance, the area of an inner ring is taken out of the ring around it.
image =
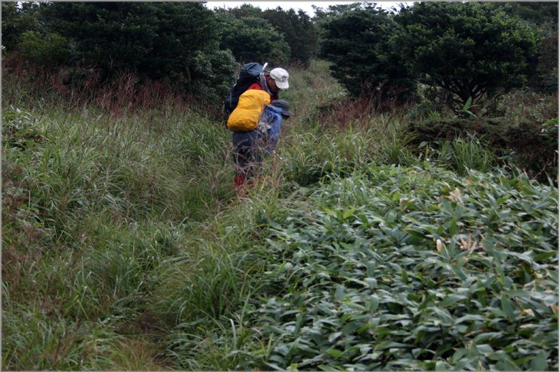
[[[259,290],[196,337],[199,322],[177,328],[173,355],[196,369],[556,369],[557,202],[524,174],[429,166],[299,188],[264,225],[228,228],[258,233]]]

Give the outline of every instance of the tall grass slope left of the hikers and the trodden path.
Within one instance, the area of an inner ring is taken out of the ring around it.
[[[228,152],[224,128],[186,107],[115,118],[89,105],[5,105],[3,366],[164,368],[112,329],[157,324],[143,310],[150,275],[231,200]],[[95,346],[103,339],[108,352]]]

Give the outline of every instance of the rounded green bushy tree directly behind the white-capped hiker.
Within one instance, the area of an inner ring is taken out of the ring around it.
[[[269,62],[273,66],[287,64],[291,49],[267,20],[259,17],[235,17],[232,13],[217,13],[219,47],[231,50],[240,63]]]

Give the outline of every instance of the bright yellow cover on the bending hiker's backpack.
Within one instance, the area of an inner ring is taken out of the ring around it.
[[[227,128],[235,132],[254,131],[264,110],[270,103],[270,94],[259,89],[249,89],[239,97],[239,103],[229,115]]]

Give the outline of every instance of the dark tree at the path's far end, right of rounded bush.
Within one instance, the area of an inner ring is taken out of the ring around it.
[[[279,6],[273,10],[265,10],[262,17],[282,34],[291,49],[289,64],[299,63],[310,66],[310,59],[316,55],[318,36],[310,17],[293,8],[282,10]]]

